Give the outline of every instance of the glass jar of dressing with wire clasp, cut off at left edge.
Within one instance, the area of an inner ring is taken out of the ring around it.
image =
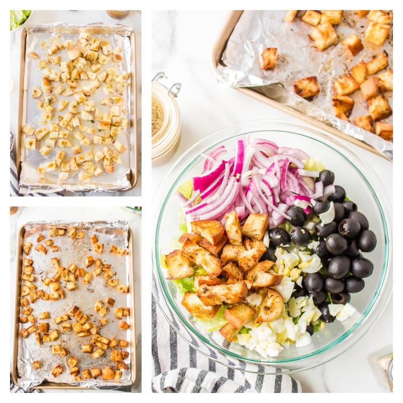
[[[174,83],[168,88],[159,82],[163,78],[167,78],[165,74],[158,73],[152,83],[151,153],[153,163],[167,161],[176,151],[180,140],[180,112],[175,98],[181,84]]]

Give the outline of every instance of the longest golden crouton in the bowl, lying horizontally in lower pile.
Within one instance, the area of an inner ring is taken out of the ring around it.
[[[217,286],[202,285],[197,289],[197,296],[206,306],[226,304],[236,304],[243,302],[247,296],[248,289],[245,282],[240,281],[235,284],[219,284]]]

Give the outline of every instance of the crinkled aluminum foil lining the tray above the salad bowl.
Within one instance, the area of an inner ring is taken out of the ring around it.
[[[344,11],[342,22],[335,27],[339,42],[324,51],[318,51],[308,34],[313,27],[300,18],[284,22],[287,11],[244,11],[228,39],[216,77],[221,87],[248,87],[268,98],[289,106],[301,113],[335,127],[355,139],[364,141],[385,157],[393,159],[393,145],[389,141],[352,123],[334,117],[331,98],[333,83],[347,74],[360,62],[386,51],[389,67],[393,68],[392,29],[382,46],[364,43],[364,49],[356,56],[341,41],[351,33],[364,38],[368,24],[365,17],[359,19],[353,11]],[[299,12],[298,16],[303,14]],[[273,70],[264,71],[261,53],[266,47],[276,47],[280,57]],[[320,93],[307,101],[293,93],[293,83],[304,77],[317,76]],[[392,92],[384,94],[392,107]],[[368,114],[366,100],[361,91],[351,94],[355,101],[354,116]],[[392,123],[392,116],[383,120]]]

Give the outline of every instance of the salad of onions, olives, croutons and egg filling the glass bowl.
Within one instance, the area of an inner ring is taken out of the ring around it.
[[[358,315],[376,246],[366,217],[305,152],[245,136],[220,146],[178,189],[186,230],[166,279],[206,331],[262,357],[304,347],[326,322]]]

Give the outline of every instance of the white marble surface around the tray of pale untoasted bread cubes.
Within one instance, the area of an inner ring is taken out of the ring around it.
[[[105,10],[91,10],[91,11],[50,11],[50,10],[34,10],[27,25],[36,24],[53,24],[57,22],[63,22],[68,24],[87,24],[87,23],[114,23],[114,24],[128,24],[132,26],[136,36],[136,85],[137,85],[137,127],[138,127],[138,181],[136,186],[125,192],[97,192],[97,193],[71,193],[64,192],[69,195],[80,196],[141,196],[142,190],[142,175],[141,175],[141,118],[142,118],[142,102],[141,102],[141,83],[142,83],[142,26],[141,26],[141,13],[136,10],[132,10],[123,19],[117,20],[110,17]],[[20,55],[21,55],[21,29],[12,31],[10,33],[10,48],[11,48],[11,65],[10,71],[11,90],[10,90],[10,130],[17,135],[18,125],[18,88],[20,77]]]

